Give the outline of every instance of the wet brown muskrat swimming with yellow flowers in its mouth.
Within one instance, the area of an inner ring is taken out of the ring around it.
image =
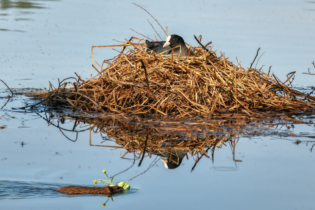
[[[123,187],[119,186],[109,186],[104,187],[80,187],[80,186],[64,186],[55,190],[57,192],[64,192],[68,194],[114,194],[123,191]]]

